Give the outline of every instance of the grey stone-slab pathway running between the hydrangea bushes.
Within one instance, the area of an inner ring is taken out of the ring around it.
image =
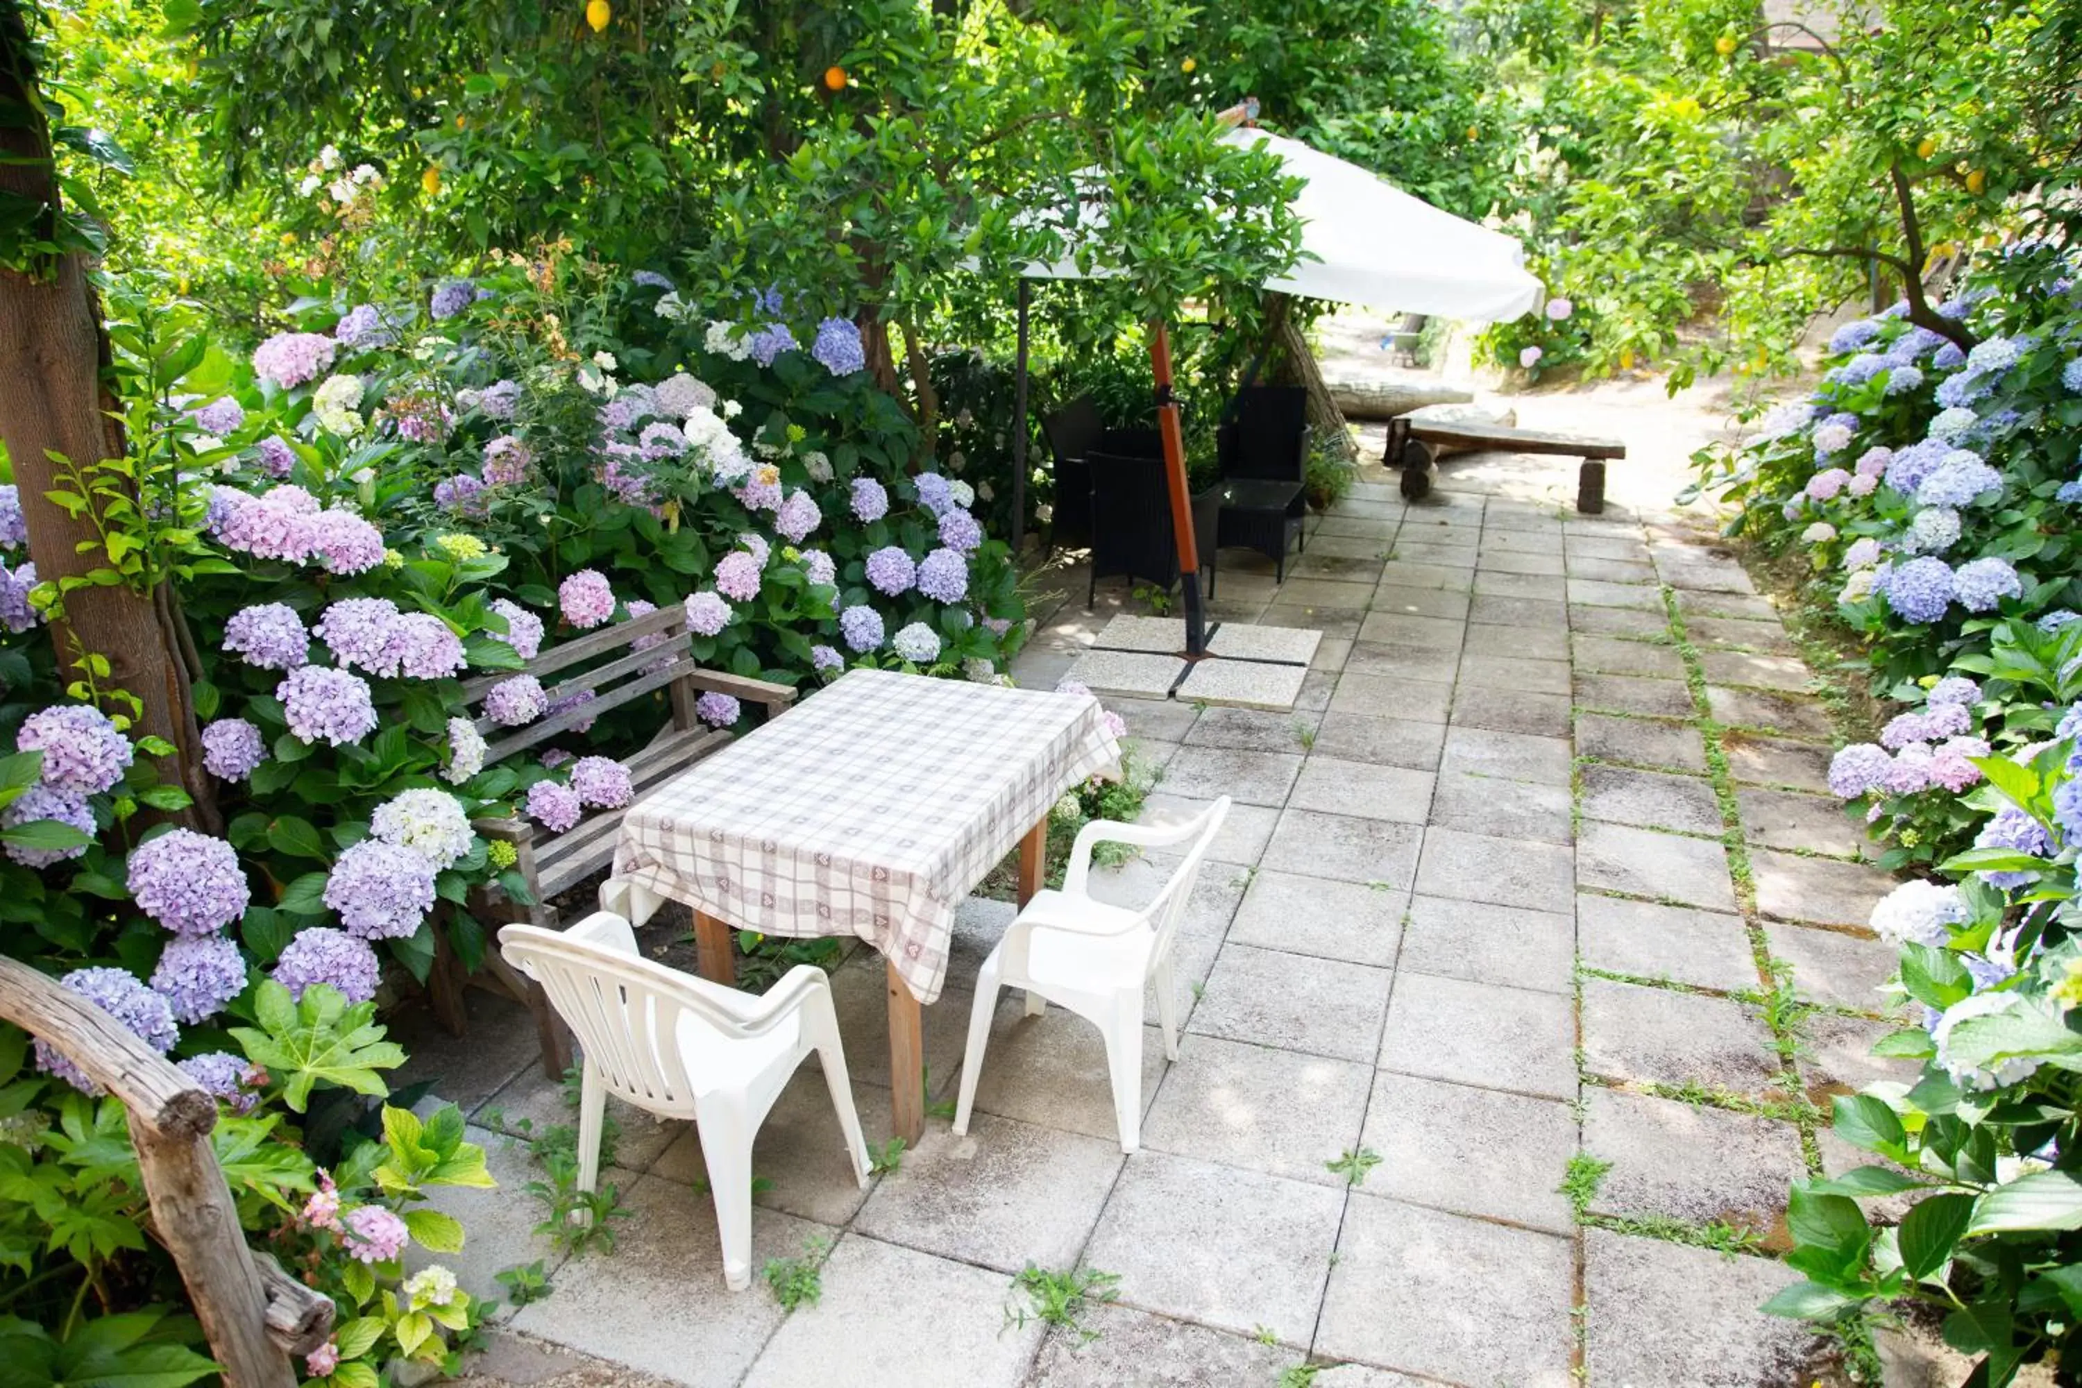
[[[1809,1342],[1755,1305],[1793,1280],[1768,1257],[1786,1182],[1857,1165],[1818,1122],[1882,1074],[1893,959],[1859,928],[1888,880],[1818,795],[1826,710],[1691,531],[1480,491],[1405,510],[1374,477],[1283,587],[1220,576],[1218,616],[1326,633],[1295,714],[1116,703],[1162,768],[1149,816],[1237,801],[1180,939],[1176,1063],[1149,1028],[1143,1151],[1114,1140],[1097,1034],[1012,995],[970,1136],[929,1120],[868,1192],[806,1070],[756,1153],[756,1263],[822,1261],[820,1301],[785,1313],[722,1288],[681,1124],[620,1113],[612,1253],[560,1263],[529,1232],[525,1147],[493,1130],[568,1117],[498,1011],[439,1088],[504,1186],[448,1201],[464,1282],[552,1271],[510,1338],[702,1388],[1274,1388],[1305,1363],[1318,1388],[1807,1384]],[[1045,620],[1022,683],[1108,616]],[[1147,897],[1166,866],[1101,891]],[[935,1099],[1008,916],[964,914],[926,1009]],[[835,988],[877,1140],[881,966]],[[1029,1265],[1118,1276],[1097,1338],[1020,1315]]]

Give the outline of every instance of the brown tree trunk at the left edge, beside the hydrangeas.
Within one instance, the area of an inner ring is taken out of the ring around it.
[[[19,15],[0,23],[0,106],[40,110],[35,75]],[[42,123],[0,127],[0,191],[40,204],[46,235],[56,231],[58,185],[50,133]],[[81,466],[121,456],[123,435],[102,391],[106,341],[81,254],[37,264],[0,264],[0,443],[6,443],[29,526],[29,558],[40,581],[100,568],[100,535],[44,499],[58,487],[52,454]],[[85,545],[85,547],[83,547]],[[142,701],[133,735],[160,737],[175,755],[160,774],[208,805],[187,674],[154,601],[123,585],[83,585],[67,593],[50,622],[60,670],[85,656],[108,660],[98,691],[123,689]],[[127,710],[125,710],[127,712]],[[181,755],[187,749],[196,755]],[[198,793],[200,791],[200,793]]]

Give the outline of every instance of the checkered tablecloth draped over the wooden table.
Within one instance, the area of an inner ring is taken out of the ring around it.
[[[931,1003],[954,909],[1064,791],[1118,766],[1091,695],[854,670],[631,807],[602,899],[858,934]]]

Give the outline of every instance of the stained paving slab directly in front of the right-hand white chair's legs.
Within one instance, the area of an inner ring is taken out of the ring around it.
[[[883,1176],[854,1230],[1012,1276],[1070,1267],[1120,1174],[1110,1138],[979,1113],[968,1136],[929,1124]]]

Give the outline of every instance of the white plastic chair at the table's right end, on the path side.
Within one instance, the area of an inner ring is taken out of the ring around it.
[[[976,1103],[983,1049],[991,1040],[991,1016],[999,988],[1026,991],[1026,1016],[1041,1016],[1060,1003],[1093,1022],[1106,1036],[1106,1068],[1114,1080],[1114,1122],[1120,1151],[1133,1153],[1143,1140],[1143,988],[1156,980],[1158,1022],[1164,1055],[1178,1059],[1178,984],[1172,976],[1172,941],[1185,918],[1193,878],[1208,857],[1228,797],[1214,801],[1193,820],[1176,826],[1120,824],[1093,820],[1076,834],[1062,891],[1035,893],[1026,909],[1006,928],[997,949],[976,976],[976,1005],[968,1016],[968,1051],[962,1057],[962,1095],[954,1109],[954,1132],[968,1132],[968,1111]],[[1091,849],[1099,843],[1133,843],[1147,849],[1193,841],[1185,862],[1162,891],[1141,909],[1095,901],[1087,889]]]

